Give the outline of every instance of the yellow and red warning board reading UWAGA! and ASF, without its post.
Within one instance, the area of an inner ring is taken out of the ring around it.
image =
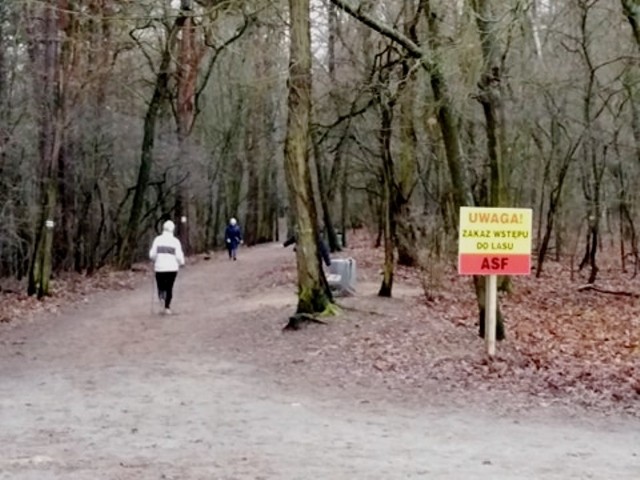
[[[530,208],[460,208],[460,275],[529,275]]]

